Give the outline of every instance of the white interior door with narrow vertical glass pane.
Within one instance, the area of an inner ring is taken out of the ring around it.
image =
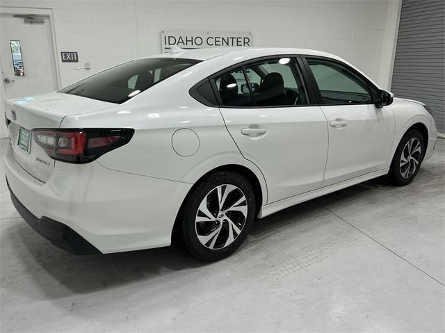
[[[5,98],[32,98],[58,88],[51,24],[49,17],[38,18],[43,23],[27,23],[23,17],[0,14],[1,84]],[[3,100],[0,108],[3,115]],[[1,126],[3,137],[4,122]]]

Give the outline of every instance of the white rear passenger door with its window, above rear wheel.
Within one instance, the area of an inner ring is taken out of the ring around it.
[[[294,58],[257,60],[211,79],[229,133],[264,174],[268,203],[321,186],[326,119],[309,105]]]

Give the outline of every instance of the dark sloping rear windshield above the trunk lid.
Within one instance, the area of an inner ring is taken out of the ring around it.
[[[182,58],[132,60],[73,83],[59,92],[120,104],[196,63],[200,63],[200,60]]]

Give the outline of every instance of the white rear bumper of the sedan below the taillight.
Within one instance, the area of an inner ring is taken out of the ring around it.
[[[53,243],[60,234],[65,243],[67,235],[79,235],[102,253],[170,245],[177,212],[192,186],[109,170],[97,161],[56,161],[43,183],[15,162],[10,147],[5,167],[17,211],[33,229]]]

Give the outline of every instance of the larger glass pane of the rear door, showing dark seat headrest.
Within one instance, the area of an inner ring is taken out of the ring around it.
[[[265,60],[246,66],[245,71],[257,106],[307,105],[307,94],[295,59]]]

